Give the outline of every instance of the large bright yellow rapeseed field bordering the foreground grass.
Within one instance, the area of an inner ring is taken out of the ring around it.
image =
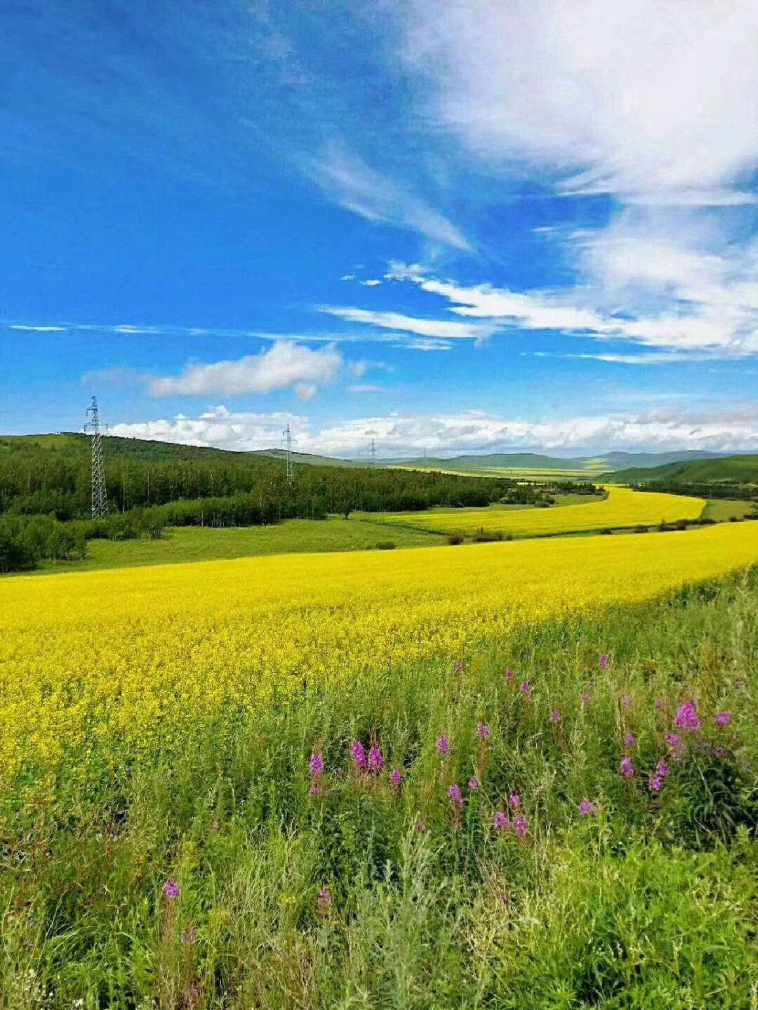
[[[577,506],[578,508],[578,506]],[[0,773],[637,601],[758,561],[758,523],[0,580]]]

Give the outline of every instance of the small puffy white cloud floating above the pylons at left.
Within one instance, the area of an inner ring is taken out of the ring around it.
[[[319,385],[331,382],[342,364],[333,344],[312,350],[293,341],[280,340],[259,355],[211,365],[190,364],[180,376],[165,376],[150,384],[152,396],[205,396],[225,393],[268,393],[297,386],[308,399]]]

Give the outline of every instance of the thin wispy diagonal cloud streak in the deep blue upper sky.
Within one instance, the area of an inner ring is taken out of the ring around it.
[[[443,245],[469,248],[465,235],[446,217],[366,165],[343,143],[333,141],[319,158],[302,164],[306,174],[341,207],[369,221],[418,231]]]

